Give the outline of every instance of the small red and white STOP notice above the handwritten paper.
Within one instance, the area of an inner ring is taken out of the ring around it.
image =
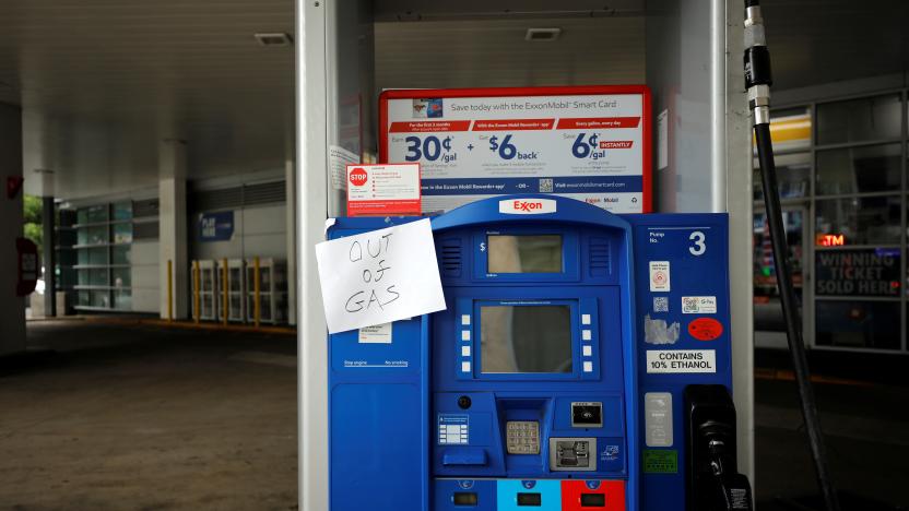
[[[347,165],[347,216],[420,215],[420,164]]]

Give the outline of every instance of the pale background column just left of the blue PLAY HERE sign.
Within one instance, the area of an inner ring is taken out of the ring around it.
[[[189,261],[187,260],[186,142],[165,140],[158,150],[158,272],[160,314],[167,318],[170,295],[174,319],[189,317]],[[167,293],[167,261],[173,275]]]

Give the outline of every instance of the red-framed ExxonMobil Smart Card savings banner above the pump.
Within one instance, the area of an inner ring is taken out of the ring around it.
[[[386,91],[379,158],[418,162],[424,212],[506,193],[650,211],[646,86]]]

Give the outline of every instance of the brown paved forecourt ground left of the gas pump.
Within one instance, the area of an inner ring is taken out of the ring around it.
[[[296,341],[31,322],[0,375],[0,509],[296,509]]]

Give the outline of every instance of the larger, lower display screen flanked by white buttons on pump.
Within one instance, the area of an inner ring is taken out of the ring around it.
[[[480,307],[481,371],[571,372],[569,306]]]

